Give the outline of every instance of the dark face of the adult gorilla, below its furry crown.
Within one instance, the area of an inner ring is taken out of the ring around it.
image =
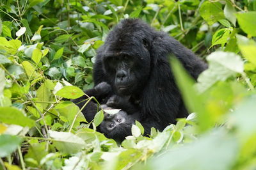
[[[108,43],[109,47],[103,58],[103,66],[108,75],[110,84],[119,95],[131,95],[140,91],[147,82],[150,73],[150,54],[145,49],[142,40],[134,41],[137,44],[122,43],[129,41],[131,37]],[[138,43],[141,42],[141,43]],[[140,48],[138,48],[138,46]],[[129,49],[129,51],[127,51]]]

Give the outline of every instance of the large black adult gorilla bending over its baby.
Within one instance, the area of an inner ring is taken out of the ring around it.
[[[191,50],[166,33],[155,31],[139,19],[122,20],[98,51],[93,68],[95,85],[108,82],[114,94],[129,96],[131,103],[138,103],[140,120],[148,128],[151,125],[163,130],[176,118],[188,116],[168,62],[170,54],[195,79],[207,68]]]

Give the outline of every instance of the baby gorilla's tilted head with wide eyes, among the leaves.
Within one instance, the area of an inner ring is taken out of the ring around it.
[[[112,109],[108,107],[108,109]],[[127,134],[131,135],[132,124],[135,119],[132,115],[128,115],[125,111],[118,111],[116,114],[108,114],[104,112],[104,120],[99,125],[99,131],[106,137],[121,142]]]

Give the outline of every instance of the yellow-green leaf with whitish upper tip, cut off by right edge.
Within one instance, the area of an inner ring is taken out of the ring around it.
[[[237,35],[237,44],[244,58],[256,65],[256,43],[245,36]]]

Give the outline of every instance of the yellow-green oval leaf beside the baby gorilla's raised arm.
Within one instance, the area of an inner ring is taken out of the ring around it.
[[[60,89],[56,95],[64,98],[75,99],[82,97],[84,92],[76,86],[65,86],[64,88]]]

